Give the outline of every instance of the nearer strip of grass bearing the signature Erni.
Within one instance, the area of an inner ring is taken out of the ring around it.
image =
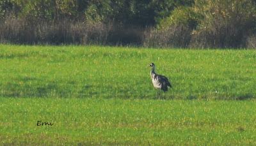
[[[256,145],[255,101],[0,98],[0,145]],[[53,126],[36,126],[37,121]]]

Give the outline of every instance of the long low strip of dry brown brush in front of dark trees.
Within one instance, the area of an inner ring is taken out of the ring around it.
[[[141,45],[144,29],[100,21],[43,21],[6,17],[0,23],[0,42],[18,44]]]

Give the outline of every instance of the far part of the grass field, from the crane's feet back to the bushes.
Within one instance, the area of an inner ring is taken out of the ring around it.
[[[255,50],[0,45],[0,96],[154,99],[148,64],[170,78],[166,99],[256,97]]]

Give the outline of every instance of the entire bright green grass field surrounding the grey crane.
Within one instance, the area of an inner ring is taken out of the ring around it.
[[[173,85],[162,99],[150,62]],[[0,145],[256,145],[255,62],[255,50],[0,45]]]

